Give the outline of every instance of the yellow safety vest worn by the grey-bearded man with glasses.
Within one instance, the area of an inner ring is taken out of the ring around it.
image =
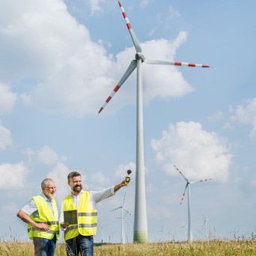
[[[45,223],[49,225],[50,230],[45,231],[43,228],[36,228],[28,224],[28,237],[30,239],[33,239],[33,237],[41,237],[50,240],[56,235],[58,240],[58,209],[55,199],[52,199],[53,213],[49,205],[46,203],[45,199],[41,195],[34,196],[32,199],[37,206],[39,216],[35,217],[33,214],[31,214],[30,218],[34,220],[34,222]]]

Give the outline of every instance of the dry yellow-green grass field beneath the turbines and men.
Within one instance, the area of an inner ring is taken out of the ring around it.
[[[33,243],[28,242],[1,242],[0,255],[26,256],[34,255]],[[64,243],[58,243],[55,255],[66,255]],[[210,241],[192,243],[129,243],[129,244],[98,244],[94,246],[94,256],[155,256],[155,255],[256,255],[255,240]]]

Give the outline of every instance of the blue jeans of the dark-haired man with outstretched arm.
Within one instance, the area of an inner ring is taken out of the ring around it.
[[[66,240],[67,255],[72,256],[93,256],[94,255],[94,237],[82,236],[79,234],[77,237]]]

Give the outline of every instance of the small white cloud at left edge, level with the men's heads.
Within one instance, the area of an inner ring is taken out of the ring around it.
[[[0,189],[16,190],[24,186],[28,169],[24,162],[16,164],[4,163],[0,165]]]

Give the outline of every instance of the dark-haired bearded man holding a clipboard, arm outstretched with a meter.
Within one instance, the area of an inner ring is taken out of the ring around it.
[[[64,198],[59,222],[64,229],[67,255],[94,255],[94,235],[97,231],[97,202],[115,195],[125,181],[101,191],[82,190],[82,177],[77,171],[67,176],[71,194]],[[77,210],[77,222],[70,224],[64,220],[64,211]]]

